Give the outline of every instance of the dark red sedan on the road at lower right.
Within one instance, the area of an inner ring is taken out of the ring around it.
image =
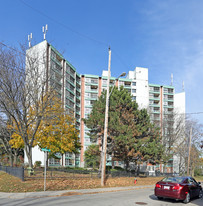
[[[193,197],[202,197],[200,184],[192,177],[165,177],[156,183],[154,194],[158,199],[171,198],[188,203]]]

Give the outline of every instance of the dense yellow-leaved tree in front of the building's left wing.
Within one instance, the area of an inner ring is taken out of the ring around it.
[[[37,133],[38,146],[50,149],[51,153],[77,152],[81,147],[78,135],[75,119],[66,114],[62,104],[57,100],[48,107],[46,116],[40,124]]]

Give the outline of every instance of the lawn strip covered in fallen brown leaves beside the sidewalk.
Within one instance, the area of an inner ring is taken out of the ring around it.
[[[136,185],[152,185],[162,177],[147,177],[137,178]],[[91,178],[68,178],[68,179],[54,179],[46,181],[46,190],[71,190],[71,189],[88,189],[99,188],[101,179]],[[109,178],[106,181],[105,187],[125,187],[135,186],[133,177],[116,177]],[[21,181],[17,177],[8,175],[5,172],[0,171],[0,192],[35,192],[44,190],[43,179],[28,179]]]

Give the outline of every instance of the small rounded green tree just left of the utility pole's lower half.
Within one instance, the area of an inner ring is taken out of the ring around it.
[[[100,164],[100,150],[99,145],[92,144],[85,151],[86,167],[98,168]]]

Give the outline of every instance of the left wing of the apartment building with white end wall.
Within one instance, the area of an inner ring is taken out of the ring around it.
[[[68,62],[61,53],[59,53],[46,40],[27,50],[27,56],[37,58],[39,72],[42,78],[48,79],[47,86],[53,86],[57,96],[61,98],[68,114],[76,119],[76,128],[80,130],[80,104],[81,104],[81,82],[80,74],[76,72],[73,65]],[[56,154],[57,159],[49,160],[50,166],[80,166],[80,156],[71,153]],[[43,161],[43,152],[39,148],[33,148],[33,163]],[[25,162],[27,161],[25,157]]]

